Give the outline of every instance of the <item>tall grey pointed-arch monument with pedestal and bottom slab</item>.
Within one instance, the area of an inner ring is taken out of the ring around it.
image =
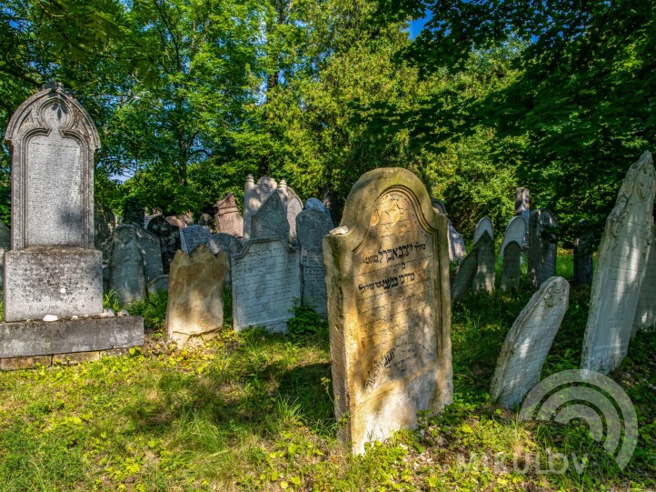
[[[94,122],[61,85],[28,98],[5,140],[12,157],[12,250],[5,253],[5,321],[100,316],[103,257],[94,249]],[[143,320],[0,325],[0,358],[140,345]]]

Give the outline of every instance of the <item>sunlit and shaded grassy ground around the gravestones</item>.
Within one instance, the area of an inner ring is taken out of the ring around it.
[[[564,252],[559,275],[572,276]],[[523,423],[490,403],[503,339],[531,295],[456,303],[453,404],[360,457],[337,444],[328,328],[312,311],[297,309],[284,336],[235,333],[226,316],[221,336],[177,350],[163,341],[165,297],[135,304],[143,349],[0,374],[0,491],[656,489],[653,331],[611,375],[640,423],[623,471],[581,421]],[[542,377],[578,368],[589,298],[572,286]],[[572,453],[581,473],[562,460]],[[548,472],[550,460],[564,473]]]

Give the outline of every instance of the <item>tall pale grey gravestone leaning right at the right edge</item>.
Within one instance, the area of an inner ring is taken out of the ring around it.
[[[653,242],[654,167],[645,152],[629,168],[606,220],[592,278],[581,368],[608,374],[621,364]]]

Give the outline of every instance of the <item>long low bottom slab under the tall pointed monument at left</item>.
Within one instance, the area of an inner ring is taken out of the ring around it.
[[[0,359],[97,352],[144,345],[144,319],[134,316],[0,323]]]

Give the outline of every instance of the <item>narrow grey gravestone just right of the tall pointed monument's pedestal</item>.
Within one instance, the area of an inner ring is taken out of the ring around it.
[[[114,230],[110,260],[110,287],[122,305],[144,299],[146,276],[144,249],[134,225],[122,224]]]

